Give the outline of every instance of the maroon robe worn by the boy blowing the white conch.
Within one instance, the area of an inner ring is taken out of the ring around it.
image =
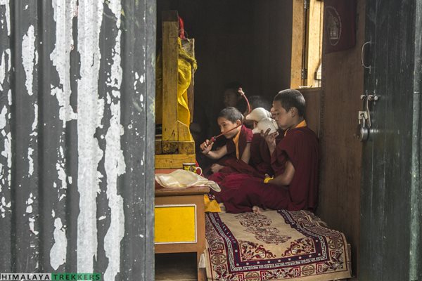
[[[210,179],[222,188],[221,192],[214,192],[217,201],[223,202],[230,213],[252,211],[253,206],[314,211],[318,202],[319,145],[312,130],[290,129],[279,141],[271,155],[275,176],[283,174],[287,160],[295,167],[295,174],[286,187],[264,183],[252,174],[215,174]]]

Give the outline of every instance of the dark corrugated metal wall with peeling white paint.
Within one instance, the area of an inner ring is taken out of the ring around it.
[[[155,1],[0,0],[0,272],[153,280],[154,63]]]

